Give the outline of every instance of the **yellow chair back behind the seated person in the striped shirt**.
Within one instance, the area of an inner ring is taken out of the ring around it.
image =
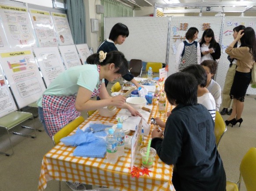
[[[221,117],[220,112],[216,111],[214,134],[215,134],[215,137],[216,137],[216,146],[217,146],[217,148],[219,146],[220,139],[222,138],[222,136],[224,135],[224,132],[226,132],[226,131],[227,131],[226,124],[225,124],[223,118]]]

